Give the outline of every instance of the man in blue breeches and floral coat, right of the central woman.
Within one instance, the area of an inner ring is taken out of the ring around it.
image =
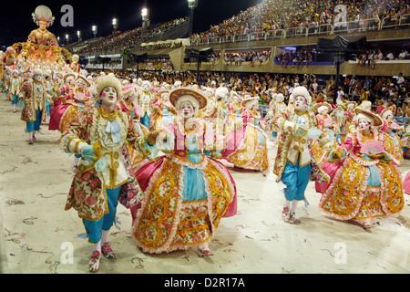
[[[282,181],[286,186],[282,218],[289,224],[298,222],[295,217],[296,207],[299,201],[306,201],[304,192],[317,155],[313,141],[324,151],[331,150],[327,135],[318,129],[315,114],[308,111],[312,102],[309,91],[299,86],[293,89],[292,95],[294,107],[279,113],[273,119],[280,130],[273,173],[278,176],[276,182]]]

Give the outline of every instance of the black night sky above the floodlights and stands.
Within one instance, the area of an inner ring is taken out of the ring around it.
[[[24,1],[5,0],[2,3],[0,17],[0,48],[13,45],[16,42],[26,42],[30,31],[37,26],[31,14],[37,5],[48,6],[56,20],[48,27],[60,39],[70,35],[71,42],[77,41],[77,30],[81,31],[83,40],[93,37],[91,26],[98,27],[97,36],[111,34],[112,19],[118,18],[118,30],[127,31],[141,26],[141,9],[149,8],[151,25],[167,22],[179,17],[189,16],[188,0],[138,0],[138,1],[96,1],[96,0],[55,0],[55,1]],[[202,32],[217,25],[224,19],[235,16],[248,7],[257,5],[261,0],[199,0],[194,10],[193,32]],[[63,5],[72,5],[74,10],[74,26],[61,26]],[[64,39],[65,42],[65,39]]]

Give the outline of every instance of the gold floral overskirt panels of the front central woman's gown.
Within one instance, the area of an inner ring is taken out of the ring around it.
[[[133,235],[144,251],[169,252],[201,245],[210,240],[228,210],[233,193],[226,178],[213,165],[204,170],[207,198],[182,201],[183,165],[164,158],[150,179]]]

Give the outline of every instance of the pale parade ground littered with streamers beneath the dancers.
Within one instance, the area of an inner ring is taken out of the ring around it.
[[[28,144],[20,110],[0,100],[0,272],[3,274],[88,274],[92,245],[74,210],[64,211],[73,156],[47,130]],[[275,146],[269,141],[270,156]],[[270,162],[273,162],[271,159]],[[131,215],[118,204],[118,226],[108,241],[116,259],[102,258],[98,274],[408,274],[410,196],[395,218],[375,218],[372,232],[332,219],[319,208],[308,185],[309,205],[299,203],[300,224],[282,220],[283,188],[270,174],[235,169],[225,162],[238,189],[238,214],[222,219],[210,242],[214,255],[197,249],[161,255],[142,253],[130,234]],[[272,170],[272,165],[271,165]],[[410,161],[400,166],[403,177]]]

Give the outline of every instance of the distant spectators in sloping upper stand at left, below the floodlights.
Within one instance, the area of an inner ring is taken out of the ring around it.
[[[125,32],[119,32],[110,36],[100,37],[95,42],[84,42],[85,44],[79,50],[76,50],[76,54],[118,54],[122,53],[132,47],[139,46],[143,42],[149,41],[155,36],[159,36],[170,29],[173,29],[184,22],[187,18],[179,18],[169,21],[164,24],[153,25],[148,27],[137,27]],[[80,44],[77,45],[78,47]]]

